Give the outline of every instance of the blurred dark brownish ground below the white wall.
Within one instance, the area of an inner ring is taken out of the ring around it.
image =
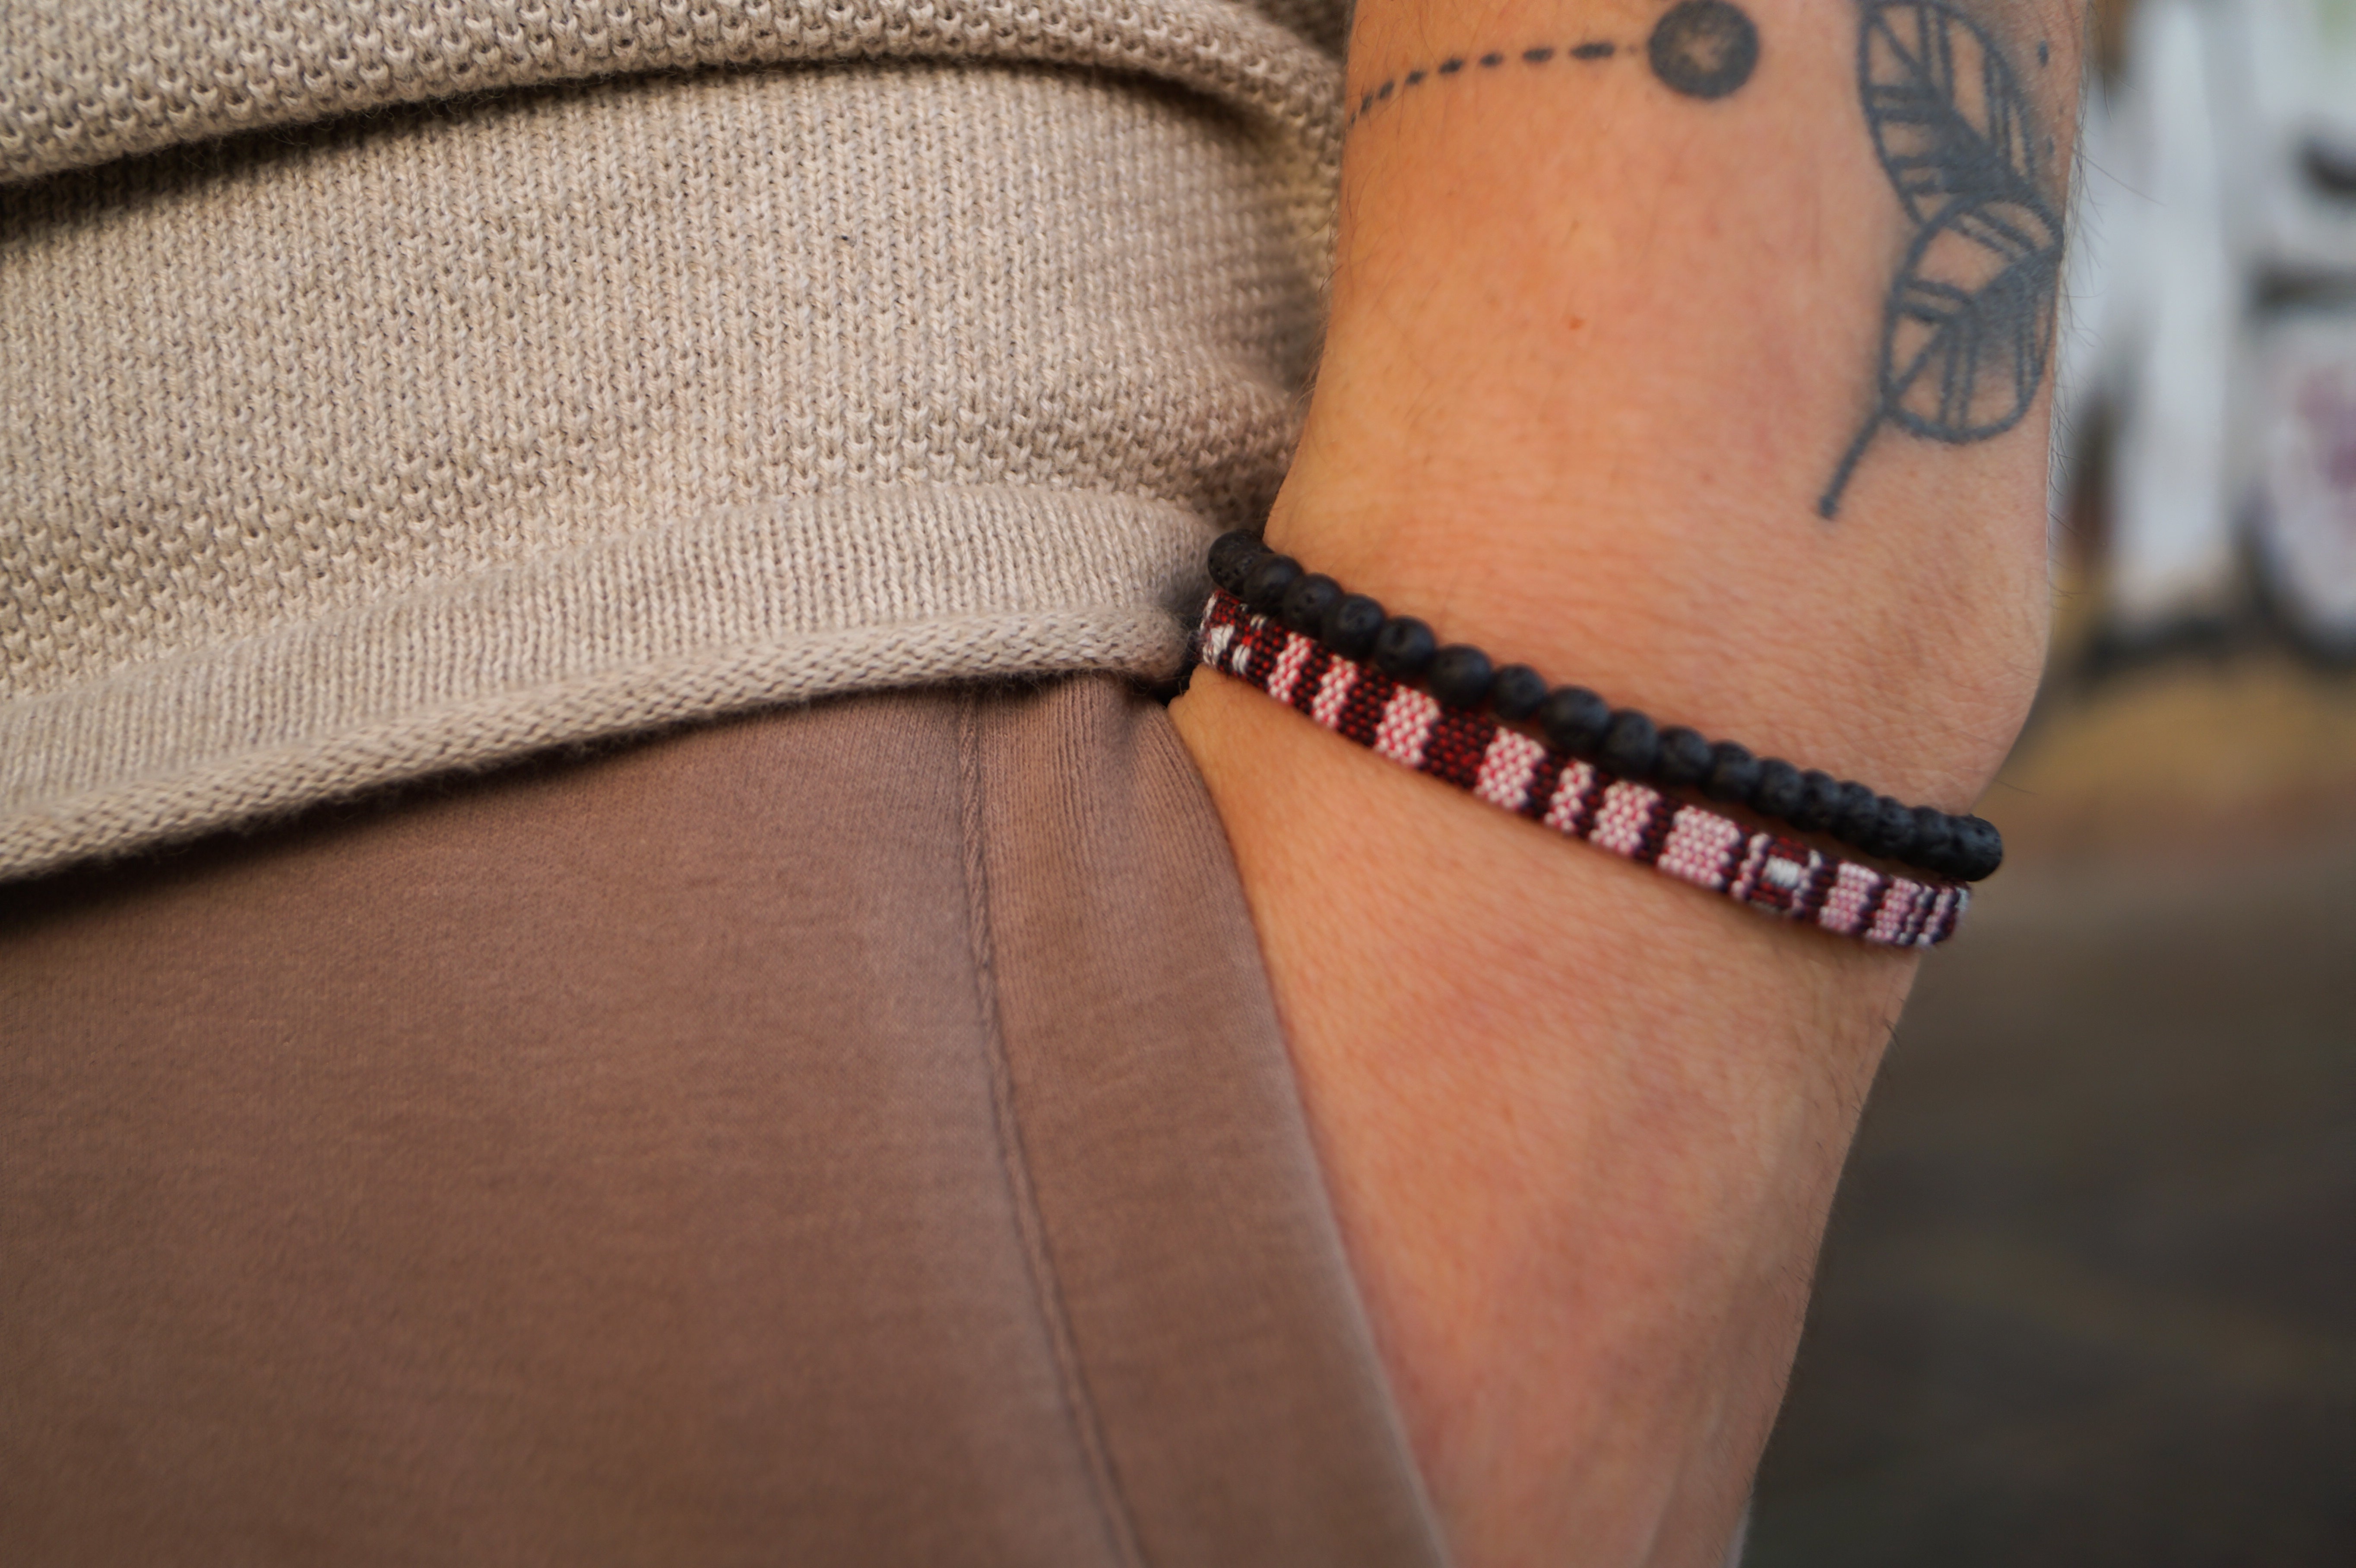
[[[2050,697],[1835,1203],[1751,1568],[2356,1566],[2356,678]]]

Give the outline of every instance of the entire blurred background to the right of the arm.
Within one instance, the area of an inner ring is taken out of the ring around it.
[[[2102,7],[2052,666],[1751,1568],[2356,1568],[2356,0]]]

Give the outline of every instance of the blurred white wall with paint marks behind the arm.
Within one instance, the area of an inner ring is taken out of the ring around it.
[[[2111,631],[2255,586],[2356,652],[2356,0],[2142,0],[2073,202],[2054,494],[2106,426]]]

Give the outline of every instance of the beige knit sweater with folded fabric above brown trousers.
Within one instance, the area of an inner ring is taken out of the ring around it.
[[[0,876],[822,692],[1176,669],[1338,0],[7,0]]]

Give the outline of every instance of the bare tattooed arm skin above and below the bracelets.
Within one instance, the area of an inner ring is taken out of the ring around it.
[[[1628,49],[1661,0],[1359,5],[1352,104],[1515,59],[1352,125],[1268,537],[1442,640],[1963,810],[2045,650],[2047,393],[1986,440],[1887,426],[1819,516],[1918,221],[1857,0],[1741,5],[1758,71],[1710,101]],[[2076,0],[1960,14],[2059,210]],[[1588,35],[1621,52],[1517,59]],[[1173,713],[1456,1561],[1718,1563],[1913,961],[1553,841],[1220,676]]]

